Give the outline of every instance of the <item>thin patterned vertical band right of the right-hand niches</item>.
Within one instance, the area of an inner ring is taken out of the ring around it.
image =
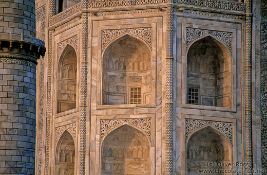
[[[245,0],[245,150],[246,150],[246,168],[252,172],[252,122],[251,122],[251,0]],[[252,173],[247,173],[252,174]]]

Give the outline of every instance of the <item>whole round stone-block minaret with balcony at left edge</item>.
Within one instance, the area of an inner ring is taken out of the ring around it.
[[[0,13],[0,174],[34,174],[36,64],[44,42],[34,38],[34,0],[4,0]]]

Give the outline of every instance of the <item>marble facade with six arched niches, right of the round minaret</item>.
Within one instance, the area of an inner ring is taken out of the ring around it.
[[[210,161],[246,162],[245,4],[132,2],[36,1],[47,47],[36,174],[199,174],[225,169]]]

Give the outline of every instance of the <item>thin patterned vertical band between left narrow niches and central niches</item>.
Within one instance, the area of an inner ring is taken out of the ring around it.
[[[88,42],[88,14],[82,14],[82,61],[81,61],[81,94],[80,94],[80,175],[85,174],[86,149],[86,98],[87,98],[87,42]]]

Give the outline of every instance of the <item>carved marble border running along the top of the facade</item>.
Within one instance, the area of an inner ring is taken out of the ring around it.
[[[67,19],[71,15],[78,13],[83,9],[94,9],[94,8],[114,8],[114,7],[124,7],[124,6],[134,6],[134,5],[152,5],[152,4],[185,4],[193,5],[202,8],[215,8],[222,10],[231,10],[237,12],[245,11],[245,4],[238,2],[225,2],[225,1],[215,1],[215,0],[100,0],[100,1],[83,1],[59,14],[55,15],[55,0],[49,0],[50,10],[49,16],[51,17],[49,24],[54,25],[64,19]]]

